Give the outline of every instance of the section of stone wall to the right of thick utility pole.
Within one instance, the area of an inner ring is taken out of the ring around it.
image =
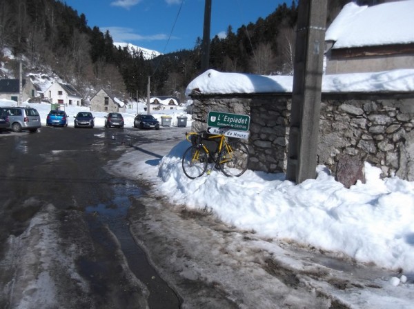
[[[414,180],[414,99],[322,101],[318,161],[358,156],[384,176]]]

